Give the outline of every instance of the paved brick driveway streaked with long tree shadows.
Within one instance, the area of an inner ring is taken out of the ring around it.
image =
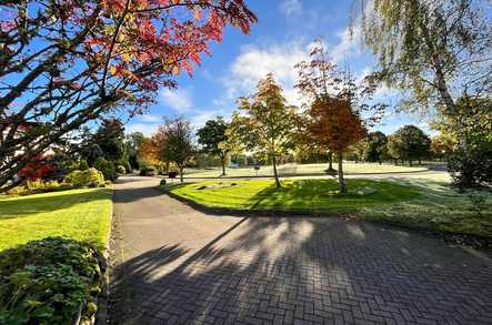
[[[117,186],[112,324],[492,324],[492,261],[338,219],[217,216]]]

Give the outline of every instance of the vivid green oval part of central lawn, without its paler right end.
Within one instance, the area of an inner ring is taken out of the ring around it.
[[[270,180],[205,181],[175,185],[171,192],[214,207],[312,212],[355,212],[363,205],[374,206],[418,195],[411,187],[389,182],[349,180],[348,183],[353,190],[372,187],[378,192],[341,195],[337,193],[334,180],[284,180],[281,189],[275,189]]]

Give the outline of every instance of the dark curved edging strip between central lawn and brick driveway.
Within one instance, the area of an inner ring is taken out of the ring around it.
[[[211,213],[218,215],[238,215],[238,216],[259,216],[259,217],[341,217],[347,221],[357,221],[357,222],[367,222],[371,224],[378,224],[385,227],[399,228],[411,231],[414,233],[419,233],[425,236],[438,238],[442,242],[468,246],[481,251],[485,251],[488,254],[492,256],[492,237],[485,237],[480,235],[460,233],[460,232],[449,232],[443,230],[432,230],[422,227],[419,225],[410,225],[405,223],[401,223],[398,221],[390,220],[370,220],[370,219],[360,219],[357,216],[357,213],[340,213],[340,212],[317,212],[317,211],[295,211],[295,210],[259,210],[259,209],[230,209],[230,207],[221,207],[221,206],[208,206],[201,203],[198,203],[191,199],[183,197],[175,193],[172,193],[172,186],[160,185],[158,186],[160,191],[173,197],[180,202],[185,203],[187,205],[201,211],[203,213]]]

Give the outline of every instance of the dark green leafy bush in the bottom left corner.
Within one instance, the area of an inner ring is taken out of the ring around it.
[[[0,253],[0,324],[72,324],[97,311],[103,258],[88,243],[49,237]]]

